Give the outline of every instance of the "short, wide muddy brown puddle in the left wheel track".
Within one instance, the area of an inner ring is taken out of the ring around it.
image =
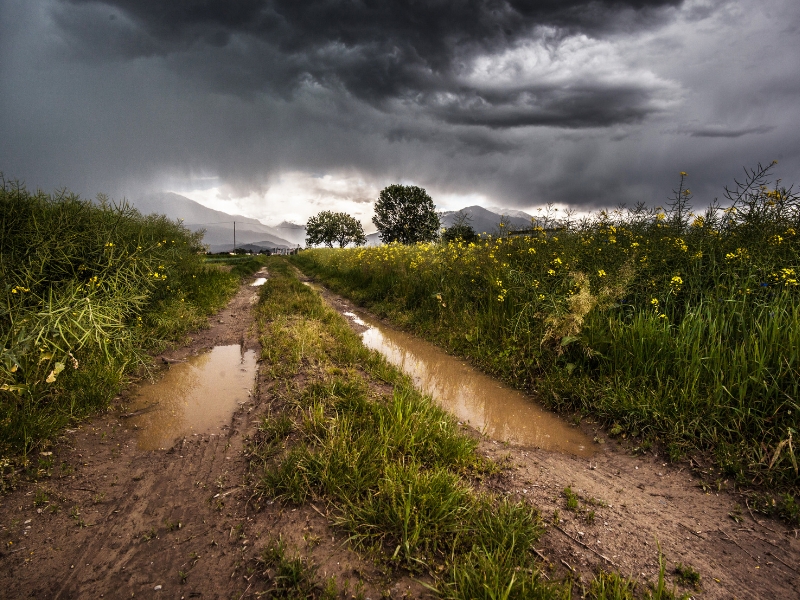
[[[255,372],[253,350],[217,346],[141,385],[130,411],[153,409],[129,419],[138,428],[139,448],[168,448],[181,436],[227,425],[237,405],[247,401]]]

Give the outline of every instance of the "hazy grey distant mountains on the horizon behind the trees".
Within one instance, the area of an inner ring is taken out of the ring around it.
[[[285,249],[305,246],[306,228],[284,221],[275,227],[264,225],[258,219],[242,215],[231,215],[220,210],[206,208],[172,192],[150,194],[131,202],[144,214],[157,213],[170,219],[182,219],[191,231],[205,230],[203,241],[211,252],[230,252],[233,250],[233,224],[236,223],[236,247],[258,252],[262,249]],[[441,213],[442,227],[450,227],[458,219],[459,213],[467,217],[467,222],[476,233],[496,234],[500,220],[505,217],[509,228],[524,229],[531,225],[531,215],[521,210],[482,206],[467,206],[458,211]],[[380,235],[367,236],[368,246],[380,245]]]

